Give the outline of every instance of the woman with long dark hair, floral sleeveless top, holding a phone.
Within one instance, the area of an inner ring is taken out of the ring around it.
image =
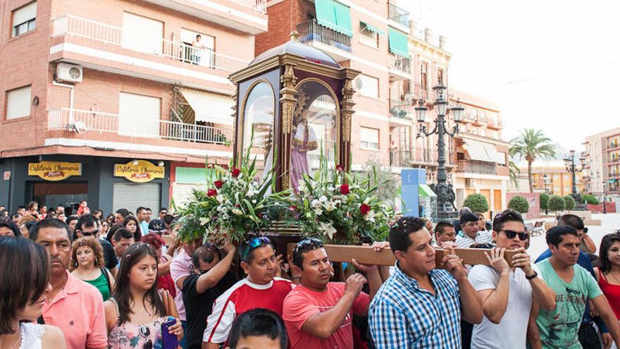
[[[183,337],[174,300],[157,289],[157,253],[146,243],[131,245],[120,259],[113,297],[104,303],[111,349],[161,348],[161,324],[173,317],[169,332]]]

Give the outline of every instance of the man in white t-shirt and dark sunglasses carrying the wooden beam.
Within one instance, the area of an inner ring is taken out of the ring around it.
[[[506,210],[495,216],[492,238],[497,248],[487,257],[491,267],[476,265],[469,272],[484,313],[482,322],[473,326],[471,348],[523,349],[532,302],[552,310],[555,293],[532,267],[521,214]],[[505,250],[519,250],[512,265],[504,259]]]

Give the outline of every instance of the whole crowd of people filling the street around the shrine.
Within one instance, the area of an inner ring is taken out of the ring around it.
[[[491,224],[400,217],[392,267],[330,261],[303,238],[290,256],[252,236],[239,246],[175,239],[168,209],[82,202],[0,207],[0,348],[615,348],[620,234],[599,254],[582,219],[559,217],[535,261],[523,218]],[[168,240],[168,236],[169,238]],[[168,242],[167,242],[168,241]],[[464,265],[456,248],[489,248]],[[435,254],[449,252],[441,264]],[[507,251],[512,259],[507,259]],[[171,346],[172,345],[172,346]]]

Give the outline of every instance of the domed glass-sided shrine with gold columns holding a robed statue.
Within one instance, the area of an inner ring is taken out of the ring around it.
[[[312,175],[323,156],[349,169],[353,79],[325,52],[291,40],[256,56],[230,75],[237,86],[234,161],[247,151],[259,176],[275,166],[276,190],[297,190],[302,173]]]

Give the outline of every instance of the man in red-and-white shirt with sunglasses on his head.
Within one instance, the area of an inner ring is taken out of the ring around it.
[[[235,317],[248,310],[266,308],[282,316],[284,299],[294,287],[291,281],[275,276],[280,266],[266,236],[247,240],[240,246],[239,254],[247,277],[213,303],[213,312],[206,319],[203,348],[218,349],[228,338]]]

